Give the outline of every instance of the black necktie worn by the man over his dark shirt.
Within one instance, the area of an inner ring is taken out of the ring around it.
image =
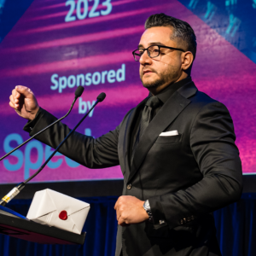
[[[160,106],[160,100],[157,96],[150,97],[148,99],[148,101],[146,102],[146,104],[145,104],[145,107],[143,109],[143,115],[142,115],[139,131],[137,133],[137,138],[136,138],[136,141],[135,141],[133,149],[132,149],[131,163],[132,163],[133,158],[134,158],[134,153],[136,151],[137,144],[139,143],[140,138],[143,136],[143,132],[148,127],[148,124],[150,123],[150,121],[153,118],[154,109],[158,108],[159,106]]]

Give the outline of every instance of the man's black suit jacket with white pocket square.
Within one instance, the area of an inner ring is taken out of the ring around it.
[[[123,195],[149,200],[154,224],[120,227],[116,256],[220,255],[211,212],[241,196],[241,160],[227,108],[193,82],[177,90],[150,122],[130,165],[131,127],[138,108],[97,139],[75,132],[61,154],[90,168],[120,165]],[[28,123],[35,134],[55,117],[43,109]],[[163,131],[178,135],[160,137]],[[69,132],[59,123],[38,137],[56,148]]]

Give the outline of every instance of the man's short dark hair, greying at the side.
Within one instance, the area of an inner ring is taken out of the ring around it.
[[[172,34],[172,38],[170,39],[181,39],[183,43],[186,44],[186,49],[184,50],[191,51],[195,60],[196,37],[195,32],[189,23],[161,13],[158,15],[151,15],[148,17],[148,20],[146,20],[145,29],[154,26],[172,26],[174,28],[174,32]]]

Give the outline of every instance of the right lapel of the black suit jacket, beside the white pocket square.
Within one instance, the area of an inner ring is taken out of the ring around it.
[[[154,119],[149,123],[140,139],[140,143],[137,145],[127,182],[130,182],[131,178],[142,165],[149,149],[153,146],[160,133],[189,105],[190,100],[187,99],[187,97],[194,95],[196,91],[197,89],[193,82],[185,84],[168,99],[159,113],[157,113]]]

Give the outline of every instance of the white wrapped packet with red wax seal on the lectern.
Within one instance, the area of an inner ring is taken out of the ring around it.
[[[81,234],[89,210],[90,204],[84,201],[51,189],[44,189],[35,193],[26,218],[40,224]],[[66,215],[67,219],[61,219]]]

